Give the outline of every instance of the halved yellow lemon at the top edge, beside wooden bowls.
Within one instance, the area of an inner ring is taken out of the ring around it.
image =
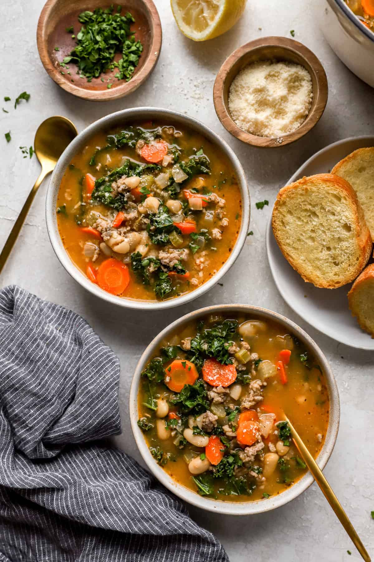
[[[247,0],[170,0],[183,35],[193,41],[218,37],[241,17]]]

